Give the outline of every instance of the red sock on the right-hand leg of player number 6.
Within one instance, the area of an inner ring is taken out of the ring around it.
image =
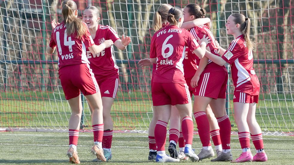
[[[182,119],[182,133],[185,144],[192,144],[194,125],[191,117],[184,117]]]

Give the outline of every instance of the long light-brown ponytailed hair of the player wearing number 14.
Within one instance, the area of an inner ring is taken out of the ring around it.
[[[81,39],[86,34],[86,26],[80,18],[74,16],[77,10],[77,4],[72,0],[65,0],[62,2],[62,18],[66,24],[67,36],[71,36],[75,32],[77,38]]]

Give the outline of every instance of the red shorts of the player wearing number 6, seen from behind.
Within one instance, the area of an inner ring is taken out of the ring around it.
[[[151,91],[153,106],[191,103],[187,84],[153,82]]]

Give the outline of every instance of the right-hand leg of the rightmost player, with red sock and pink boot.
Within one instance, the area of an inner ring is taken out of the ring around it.
[[[258,100],[257,96],[255,97]],[[254,147],[256,149],[256,155],[253,157],[253,161],[267,161],[267,155],[263,148],[263,138],[262,138],[262,132],[259,127],[259,124],[256,121],[255,118],[255,112],[256,112],[256,103],[249,103],[249,111],[247,115],[247,123],[249,126],[249,130],[251,132],[251,139],[254,144]]]

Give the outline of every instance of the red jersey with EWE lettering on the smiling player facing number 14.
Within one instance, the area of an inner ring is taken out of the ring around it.
[[[116,31],[106,25],[98,25],[94,43],[100,45],[105,40],[111,39],[113,43],[120,39]],[[114,77],[118,78],[118,66],[115,63],[113,46],[105,48],[100,53],[93,55],[89,49],[87,50],[87,58],[90,61],[90,67],[93,70],[95,78],[97,80],[103,80],[105,78]]]

